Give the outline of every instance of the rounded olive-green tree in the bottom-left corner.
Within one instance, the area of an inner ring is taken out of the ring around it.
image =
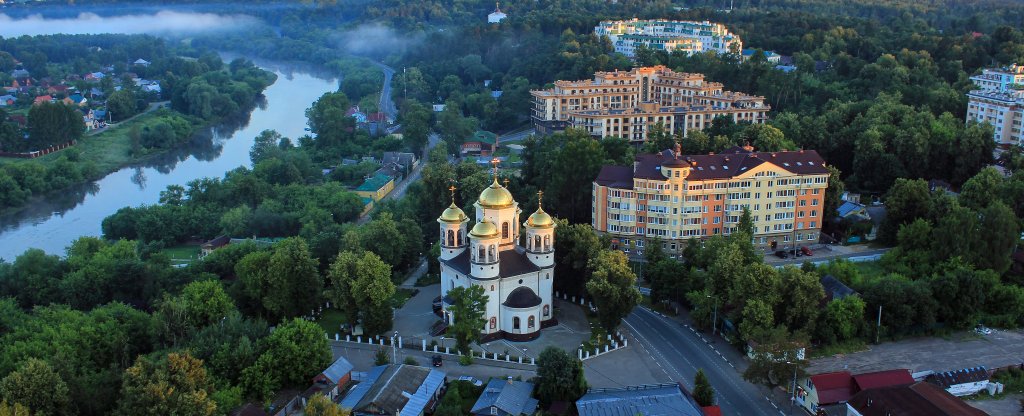
[[[63,378],[38,359],[29,359],[0,380],[0,398],[39,416],[68,414],[71,404]]]

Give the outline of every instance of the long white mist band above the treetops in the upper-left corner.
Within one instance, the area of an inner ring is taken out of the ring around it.
[[[81,13],[73,18],[47,18],[39,14],[12,18],[7,14],[0,14],[0,36],[10,38],[23,35],[102,33],[173,35],[236,31],[257,23],[259,19],[244,14],[223,15],[167,10],[154,14],[105,17],[95,13]]]

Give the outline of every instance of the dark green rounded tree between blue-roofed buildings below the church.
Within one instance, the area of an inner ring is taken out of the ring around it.
[[[583,362],[564,349],[548,346],[537,358],[537,398],[544,406],[575,402],[587,392]]]

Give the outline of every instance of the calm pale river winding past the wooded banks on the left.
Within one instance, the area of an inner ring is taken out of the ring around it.
[[[118,209],[156,204],[167,185],[222,177],[231,169],[251,166],[249,149],[263,130],[276,130],[293,140],[306,134],[305,109],[325,92],[337,90],[338,81],[302,67],[256,63],[273,71],[278,81],[252,113],[206,129],[184,149],[0,216],[0,258],[12,261],[29,248],[63,255],[79,237],[100,236],[103,218]]]

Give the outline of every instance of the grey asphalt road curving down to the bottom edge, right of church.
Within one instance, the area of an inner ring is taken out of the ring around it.
[[[765,398],[763,387],[744,381],[721,352],[712,349],[687,327],[644,307],[635,308],[625,324],[669,376],[691,391],[693,376],[697,369],[702,369],[724,414],[778,415],[779,411]]]

